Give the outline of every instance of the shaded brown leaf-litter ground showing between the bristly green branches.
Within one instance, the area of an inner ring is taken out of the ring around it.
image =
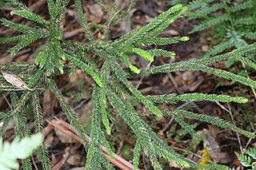
[[[24,1],[25,2],[25,1]],[[126,6],[128,2],[122,2],[121,6]],[[26,4],[30,6],[35,13],[49,18],[47,14],[46,0],[38,1],[27,1]],[[86,42],[82,29],[78,24],[78,17],[74,11],[73,1],[70,2],[70,6],[66,13],[66,24],[64,26],[66,39],[70,40],[79,40]],[[106,15],[103,14],[102,10],[98,5],[95,5],[92,1],[87,1],[83,3],[84,10],[86,11],[86,17],[89,22],[102,23],[106,20]],[[122,22],[120,26],[114,26],[111,31],[110,38],[115,39],[120,35],[125,34],[126,31],[130,29],[138,28],[145,25],[146,23],[152,21],[152,19],[157,16],[159,13],[168,9],[168,1],[156,1],[156,0],[145,0],[139,1],[135,6],[133,13],[130,18],[127,18],[125,22]],[[13,19],[14,22],[21,22],[26,25],[30,25],[30,22],[23,20],[22,18],[14,18],[10,16],[11,9],[3,9],[0,12],[1,18]],[[184,22],[185,19],[179,19],[177,22],[174,22],[167,30],[165,30],[161,36],[162,37],[171,37],[178,35],[187,35],[187,32],[193,26],[193,23]],[[14,33],[13,30],[10,30],[4,26],[0,27],[1,36],[10,36]],[[168,49],[177,53],[177,57],[174,60],[170,58],[159,57],[153,63],[153,65],[162,65],[163,63],[173,62],[173,61],[184,61],[190,60],[193,58],[202,57],[202,54],[206,49],[210,48],[210,39],[206,39],[204,34],[192,34],[189,35],[189,42],[182,42],[175,45],[162,46],[162,49]],[[98,38],[98,30],[94,30],[94,38]],[[34,56],[38,53],[38,50],[42,48],[44,42],[36,42],[33,45],[30,45],[26,49],[23,49],[14,57],[10,57],[6,54],[6,49],[10,45],[1,45],[0,48],[0,64],[7,64],[11,61],[34,61]],[[152,46],[151,48],[154,48]],[[135,58],[134,64],[138,67],[146,67],[148,63],[141,58]],[[214,66],[225,69],[223,63],[217,63]],[[236,69],[242,68],[242,65],[237,65]],[[235,69],[233,70],[236,71]],[[252,79],[256,79],[256,74]],[[230,84],[228,81],[222,81],[218,77],[213,77],[210,74],[197,72],[197,71],[186,71],[186,72],[177,72],[169,74],[158,74],[150,77],[143,77],[142,82],[140,78],[135,78],[133,81],[134,85],[138,85],[138,89],[146,94],[164,94],[164,93],[224,93],[230,94],[232,96],[244,96],[250,99],[250,103],[246,105],[234,105],[234,104],[216,104],[210,102],[199,102],[196,103],[197,107],[194,108],[194,111],[197,113],[204,113],[210,116],[222,117],[231,123],[235,123],[241,128],[245,128],[254,131],[255,126],[255,99],[251,93],[250,88],[244,87],[238,84]],[[79,81],[78,81],[79,80]],[[84,125],[88,126],[88,133],[90,132],[90,117],[91,117],[91,79],[87,77],[82,71],[78,71],[77,75],[72,79],[68,79],[66,75],[58,76],[58,85],[62,90],[62,93],[66,95],[67,101],[70,102],[70,105],[76,110],[79,116],[82,117],[82,122]],[[219,82],[222,82],[218,85]],[[8,105],[6,99],[9,99],[9,93],[2,93],[0,97],[0,110],[8,110]],[[178,103],[178,105],[161,105],[161,108],[165,109],[174,109],[183,105],[183,103]],[[185,103],[185,105],[191,105]],[[230,109],[229,109],[230,107]],[[42,109],[44,117],[53,121],[54,116],[66,120],[61,109],[59,108],[56,98],[50,92],[46,91],[44,97],[42,97]],[[138,110],[143,111],[141,106],[138,106]],[[230,113],[234,117],[235,122],[231,121]],[[196,159],[198,155],[202,155],[202,149],[206,148],[203,144],[210,142],[211,144],[218,144],[215,147],[219,148],[219,151],[216,153],[210,152],[212,156],[211,160],[228,164],[230,167],[238,166],[238,160],[235,159],[234,151],[239,152],[240,144],[238,144],[238,136],[234,132],[229,130],[218,129],[212,125],[206,125],[202,122],[192,122],[190,124],[195,124],[195,129],[198,132],[206,132],[208,136],[206,139],[201,141],[199,144],[193,144],[189,135],[186,135],[178,125],[170,117],[162,118],[161,120],[156,121],[155,117],[152,115],[147,115],[142,113],[142,118],[150,123],[151,127],[154,128],[155,132],[158,132],[159,135],[162,135],[162,139],[166,140],[172,147],[177,148],[179,152],[191,152],[194,153],[194,161],[200,162],[200,158]],[[116,116],[117,121],[112,124],[112,134],[108,136],[110,144],[113,145],[114,152],[126,160],[131,160],[131,152],[134,148],[134,136],[130,132],[130,129],[122,122],[121,118]],[[30,121],[32,125],[32,120]],[[63,132],[58,131],[57,129],[50,130],[50,126],[46,125],[46,145],[50,151],[50,159],[53,169],[82,169],[85,166],[85,156],[86,153],[83,151],[81,144],[78,144],[70,136],[66,136]],[[205,130],[203,130],[205,129]],[[49,130],[49,132],[47,131]],[[184,134],[183,134],[184,133]],[[12,140],[14,138],[13,126],[10,125],[8,132],[5,136],[6,140]],[[241,140],[241,147],[245,148],[246,144],[249,144],[251,147],[256,147],[255,140],[248,142],[248,139],[244,136],[239,136]],[[213,148],[213,147],[212,147]],[[208,148],[209,149],[209,148]],[[217,154],[217,155],[216,155]],[[189,157],[191,158],[190,155]],[[220,159],[221,158],[221,159]],[[146,156],[142,155],[142,169],[152,169],[150,166],[149,160]],[[226,160],[226,162],[222,162]],[[175,166],[174,164],[166,163],[164,160],[160,159],[164,169],[170,169],[170,167]],[[38,160],[34,158],[34,164],[40,168]],[[174,169],[174,168],[171,168]],[[179,169],[179,168],[178,168]]]

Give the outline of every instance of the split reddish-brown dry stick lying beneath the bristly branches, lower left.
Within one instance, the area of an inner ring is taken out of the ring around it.
[[[58,128],[58,130],[66,133],[66,135],[73,137],[75,140],[78,140],[78,142],[82,143],[82,140],[80,137],[75,133],[74,128],[70,126],[65,121],[59,120],[57,117],[55,117],[57,120],[57,123],[53,123],[50,121],[47,121],[49,125],[52,125],[54,128]],[[90,141],[90,136],[86,136],[86,140]],[[114,160],[112,160],[107,153],[107,149],[103,146],[101,146],[102,152],[104,156],[106,156],[106,159],[109,160],[112,164],[116,165],[118,168],[121,168],[123,170],[132,170],[134,169],[134,165],[130,164],[127,160],[123,159],[121,156],[118,156],[114,153]]]

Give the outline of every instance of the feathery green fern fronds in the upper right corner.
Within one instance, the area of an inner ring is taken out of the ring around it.
[[[214,30],[212,37],[217,39],[217,43],[206,53],[206,56],[214,56],[226,49],[237,49],[247,45],[248,42],[255,42],[256,1],[194,0],[188,6],[190,11],[193,11],[189,15],[189,20],[201,20],[190,33]],[[230,58],[230,61],[234,63],[235,60]]]

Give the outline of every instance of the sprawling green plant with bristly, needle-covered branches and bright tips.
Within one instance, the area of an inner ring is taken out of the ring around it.
[[[236,57],[239,61],[243,61],[246,65],[256,69],[256,64],[242,55],[243,53],[254,51],[256,44],[245,45],[230,53],[215,57],[202,57],[197,60],[180,61],[166,65],[151,66],[149,68],[137,68],[130,60],[132,57],[142,57],[146,61],[152,62],[154,57],[174,57],[175,55],[174,52],[164,49],[145,49],[144,47],[149,45],[170,45],[189,40],[187,37],[158,38],[158,35],[167,26],[170,26],[175,19],[186,14],[188,8],[180,4],[173,6],[146,26],[132,30],[121,38],[111,41],[108,39],[110,27],[126,18],[135,2],[132,0],[126,10],[119,10],[117,2],[113,2],[111,7],[105,6],[101,0],[96,2],[102,6],[102,10],[109,16],[105,24],[98,26],[102,30],[103,35],[98,40],[94,39],[90,30],[90,23],[86,22],[82,11],[82,1],[74,0],[81,26],[88,39],[88,42],[82,43],[63,39],[62,27],[66,7],[69,4],[68,0],[47,0],[50,20],[32,13],[22,2],[17,0],[1,1],[1,6],[15,8],[15,10],[11,11],[12,15],[26,18],[34,24],[33,27],[28,27],[2,18],[2,25],[21,33],[14,37],[0,38],[1,43],[18,42],[17,45],[9,49],[8,53],[13,55],[38,39],[47,39],[44,49],[38,53],[34,63],[13,62],[10,65],[0,65],[0,71],[2,72],[0,74],[0,91],[10,92],[11,104],[13,105],[9,112],[0,113],[0,118],[3,122],[0,129],[1,135],[6,132],[7,125],[13,120],[15,123],[15,134],[19,139],[22,139],[24,136],[30,136],[31,132],[27,125],[24,107],[27,102],[31,101],[33,101],[34,105],[35,132],[42,132],[43,119],[39,96],[43,94],[44,89],[50,89],[58,99],[59,105],[66,114],[70,125],[76,129],[85,145],[87,152],[86,169],[114,169],[100,149],[100,145],[104,145],[108,148],[111,155],[110,145],[106,140],[106,135],[111,133],[109,113],[107,113],[107,109],[110,108],[114,109],[114,112],[122,117],[137,137],[133,159],[135,169],[138,169],[141,152],[145,152],[155,169],[162,169],[158,162],[158,156],[173,161],[184,168],[227,169],[226,166],[217,164],[197,165],[180,156],[150,128],[150,125],[142,120],[136,110],[136,106],[143,105],[146,108],[146,113],[154,114],[156,117],[173,117],[174,121],[177,121],[195,140],[200,140],[201,136],[198,136],[198,133],[191,128],[192,126],[186,123],[186,119],[206,121],[220,128],[239,132],[247,137],[255,137],[253,133],[246,132],[218,117],[192,113],[186,109],[162,110],[158,108],[158,104],[175,104],[178,101],[246,103],[248,102],[246,98],[203,93],[144,96],[131,83],[130,79],[156,73],[201,70],[256,88],[256,81],[254,80],[210,66],[214,62],[227,60],[229,57]],[[90,57],[90,53],[93,53],[95,57]],[[125,65],[125,68],[122,65]],[[79,117],[77,117],[74,110],[67,103],[54,81],[58,74],[72,74],[76,69],[82,69],[94,80],[90,142],[86,141],[85,128],[80,124]],[[16,78],[19,84],[10,81],[8,76]],[[43,169],[50,169],[50,161],[44,144],[35,153],[39,160],[42,161]],[[24,169],[31,169],[29,159],[24,160],[22,164]]]

